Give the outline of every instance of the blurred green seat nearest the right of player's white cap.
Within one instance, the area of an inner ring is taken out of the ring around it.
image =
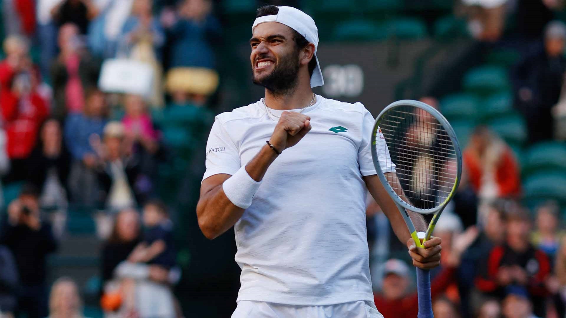
[[[334,28],[333,38],[341,41],[383,40],[387,29],[370,20],[348,20]]]

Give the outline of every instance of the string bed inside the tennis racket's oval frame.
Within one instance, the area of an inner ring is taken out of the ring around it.
[[[426,110],[399,106],[383,115],[379,132],[376,138],[385,143],[376,142],[378,158],[380,162],[391,158],[387,169],[395,165],[398,183],[389,182],[393,190],[402,191],[415,208],[434,209],[442,204],[458,171],[456,149],[444,126]]]

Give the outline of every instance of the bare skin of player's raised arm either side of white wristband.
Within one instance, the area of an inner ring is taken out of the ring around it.
[[[273,149],[265,144],[246,165],[247,174],[254,181],[261,181],[269,165],[272,164],[276,157],[277,154]],[[222,183],[201,195],[196,207],[200,229],[205,237],[209,239],[216,238],[230,229],[242,217],[244,210],[244,208],[238,207],[238,205],[230,201],[224,192]]]

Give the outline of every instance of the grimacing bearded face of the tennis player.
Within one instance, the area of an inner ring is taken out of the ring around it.
[[[254,84],[284,93],[297,84],[299,50],[288,26],[265,22],[255,27],[250,40]]]

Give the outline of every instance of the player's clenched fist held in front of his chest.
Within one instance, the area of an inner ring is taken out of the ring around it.
[[[282,152],[296,145],[312,128],[311,118],[296,111],[284,111],[273,130],[269,143]]]

